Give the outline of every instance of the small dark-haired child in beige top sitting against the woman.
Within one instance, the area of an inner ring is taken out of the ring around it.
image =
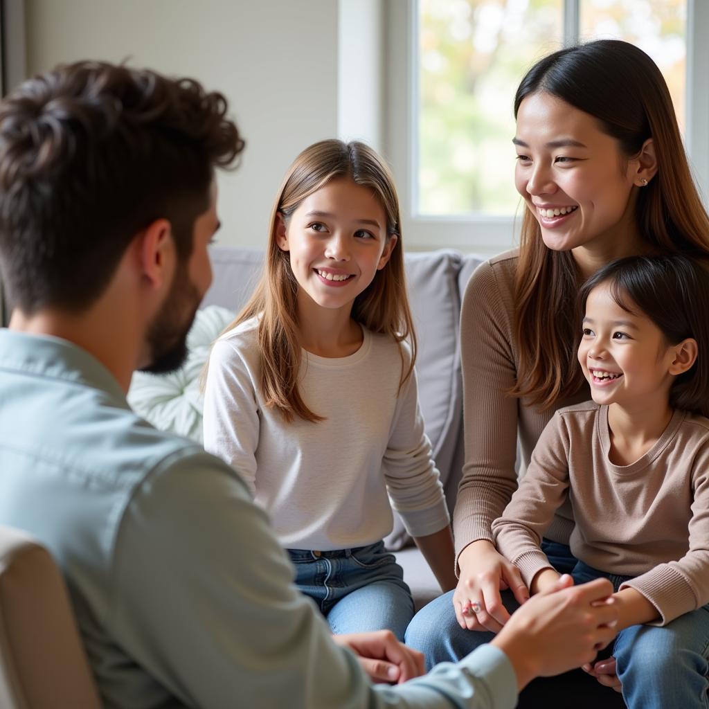
[[[709,274],[681,256],[628,257],[596,272],[580,298],[578,359],[593,401],[554,415],[493,535],[532,593],[544,591],[559,573],[540,544],[568,493],[572,576],[615,587],[625,703],[703,708]]]

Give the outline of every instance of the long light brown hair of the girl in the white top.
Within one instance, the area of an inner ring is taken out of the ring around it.
[[[316,422],[322,417],[311,411],[298,390],[301,344],[296,311],[297,282],[290,257],[277,242],[281,218],[289,223],[303,199],[337,178],[374,191],[386,214],[386,238],[396,235],[391,257],[374,280],[354,300],[352,318],[374,333],[384,333],[411,347],[411,362],[406,366],[401,351],[401,385],[406,382],[416,358],[416,337],[411,308],[406,295],[406,277],[401,243],[401,217],[393,177],[379,155],[364,143],[322,140],[303,150],[291,164],[273,206],[269,224],[266,261],[261,280],[250,301],[224,332],[250,318],[259,318],[258,342],[261,354],[261,391],[266,406],[281,411],[286,421],[299,416]]]

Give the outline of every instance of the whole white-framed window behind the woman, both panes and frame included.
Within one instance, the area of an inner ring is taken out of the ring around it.
[[[709,92],[699,78],[709,72],[708,32],[705,0],[391,2],[383,148],[408,245],[484,254],[513,246],[522,214],[514,91],[535,60],[579,39],[620,38],[657,62],[700,187],[709,186]]]

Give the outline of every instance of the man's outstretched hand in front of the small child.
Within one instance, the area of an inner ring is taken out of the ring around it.
[[[608,579],[573,586],[564,574],[557,586],[532,596],[492,641],[510,659],[521,690],[588,664],[618,632],[618,607]]]

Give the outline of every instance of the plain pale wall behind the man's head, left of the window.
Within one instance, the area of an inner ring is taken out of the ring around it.
[[[218,240],[263,247],[304,147],[337,130],[335,0],[26,0],[26,69],[99,59],[194,77],[227,97],[247,141],[219,179]]]

